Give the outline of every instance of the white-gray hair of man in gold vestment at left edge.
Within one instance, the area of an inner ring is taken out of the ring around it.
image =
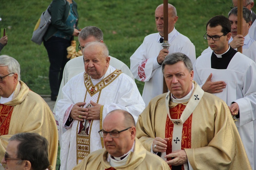
[[[0,66],[7,66],[9,73],[17,73],[20,81],[20,66],[17,60],[8,55],[0,55]],[[9,75],[12,76],[12,75]]]

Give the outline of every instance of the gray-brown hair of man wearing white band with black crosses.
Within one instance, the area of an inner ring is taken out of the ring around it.
[[[165,57],[165,60],[163,60],[162,73],[164,73],[165,65],[173,65],[179,61],[182,61],[185,64],[189,72],[193,70],[193,64],[188,56],[183,53],[171,53]]]

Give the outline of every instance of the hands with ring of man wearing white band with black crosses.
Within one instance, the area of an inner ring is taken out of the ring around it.
[[[152,143],[152,150],[156,152],[166,152],[167,150],[167,142],[169,141],[169,138],[160,138],[156,137]],[[173,151],[172,153],[168,154],[165,156],[165,158],[172,158],[172,160],[166,160],[166,163],[168,165],[182,165],[188,162],[187,160],[187,154],[184,150],[176,150]]]

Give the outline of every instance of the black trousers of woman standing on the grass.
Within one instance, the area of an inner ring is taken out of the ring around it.
[[[71,39],[64,39],[52,36],[47,41],[44,41],[44,46],[47,50],[50,68],[49,82],[52,98],[58,96],[60,83],[62,80],[63,69],[69,61],[67,58],[67,48],[71,45]]]

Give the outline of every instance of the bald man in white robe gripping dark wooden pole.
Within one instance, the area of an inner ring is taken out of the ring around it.
[[[180,34],[174,24],[178,20],[176,8],[168,4],[168,23],[164,23],[163,4],[155,10],[155,21],[158,33],[150,34],[144,38],[141,46],[130,57],[131,72],[135,79],[145,82],[142,98],[147,105],[155,96],[163,92],[163,74],[161,64],[168,53],[182,52],[192,63],[196,60],[195,46],[184,35]],[[168,24],[169,49],[163,49],[163,27]]]

